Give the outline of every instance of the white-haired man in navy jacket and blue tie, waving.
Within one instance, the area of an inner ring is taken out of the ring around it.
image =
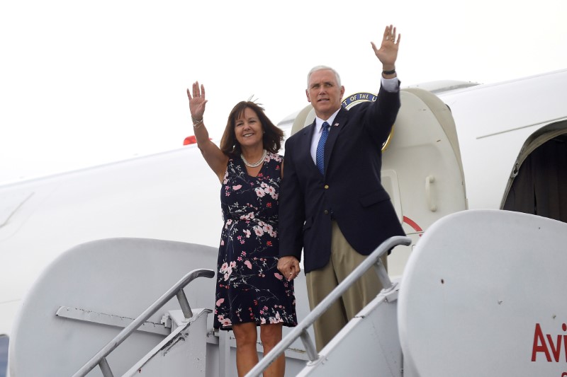
[[[308,74],[307,100],[315,122],[286,141],[280,192],[279,270],[286,279],[300,272],[301,250],[310,308],[391,236],[405,236],[381,185],[381,146],[400,108],[395,74],[400,36],[386,26],[380,49],[378,99],[342,108],[344,87],[337,72],[316,66]],[[370,269],[315,321],[320,351],[382,289]]]

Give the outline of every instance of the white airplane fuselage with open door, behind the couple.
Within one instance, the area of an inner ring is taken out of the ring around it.
[[[510,175],[532,141],[567,134],[567,70],[440,92],[426,96],[433,101],[427,106],[422,94],[403,91],[383,154],[383,182],[412,246],[442,216],[501,209]],[[305,124],[313,120],[308,111],[300,116]],[[431,128],[420,129],[425,124]],[[11,334],[35,279],[75,245],[128,237],[216,248],[223,224],[219,189],[196,145],[0,186],[0,335]],[[403,272],[412,246],[391,255],[391,274]]]

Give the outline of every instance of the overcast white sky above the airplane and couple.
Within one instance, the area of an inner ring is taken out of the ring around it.
[[[403,86],[564,69],[566,15],[566,0],[2,1],[0,184],[181,147],[197,79],[213,139],[250,95],[274,123],[308,105],[318,64],[346,94],[376,91],[370,41],[390,23]]]

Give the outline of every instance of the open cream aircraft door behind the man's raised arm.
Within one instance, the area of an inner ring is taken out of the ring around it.
[[[413,246],[438,219],[467,208],[459,141],[451,110],[437,95],[401,91],[402,106],[383,147],[382,180],[412,245],[398,246],[389,274],[403,272]]]

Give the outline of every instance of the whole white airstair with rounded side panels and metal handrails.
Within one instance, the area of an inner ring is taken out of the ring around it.
[[[282,352],[286,376],[567,376],[567,224],[452,214],[392,282],[379,257],[409,242],[386,240],[313,311],[297,282],[301,322],[269,354],[259,347],[247,376]],[[230,332],[210,325],[213,272],[192,268],[215,259],[202,245],[132,238],[69,250],[26,297],[10,376],[236,376]],[[373,267],[386,288],[316,352],[313,321]]]

